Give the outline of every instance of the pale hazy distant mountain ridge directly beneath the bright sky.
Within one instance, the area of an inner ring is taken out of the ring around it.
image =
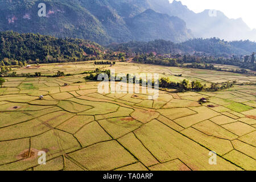
[[[159,13],[177,16],[187,23],[187,27],[192,30],[195,38],[213,38],[217,37],[228,41],[232,40],[251,40],[256,41],[256,30],[251,30],[241,18],[230,19],[225,13],[215,11],[216,15],[209,15],[210,10],[204,10],[201,13],[194,13],[180,1],[174,0],[170,3],[168,0],[148,0],[156,3]],[[162,6],[164,5],[164,6]]]

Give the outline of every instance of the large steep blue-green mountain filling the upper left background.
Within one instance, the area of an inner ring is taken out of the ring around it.
[[[42,2],[46,4],[46,17],[38,16],[38,5]],[[38,32],[100,44],[159,38],[180,42],[192,38],[183,20],[149,10],[154,9],[149,0],[2,0],[0,3],[0,31]]]

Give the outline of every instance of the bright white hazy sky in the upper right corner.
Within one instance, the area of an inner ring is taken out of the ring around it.
[[[173,0],[169,0],[172,2]],[[222,11],[229,18],[242,18],[250,27],[256,28],[255,0],[178,0],[195,13],[205,9]]]

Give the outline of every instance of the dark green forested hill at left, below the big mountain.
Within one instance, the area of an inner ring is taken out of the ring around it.
[[[55,38],[40,34],[0,32],[0,60],[54,63],[88,60],[104,53],[100,45],[82,39]]]

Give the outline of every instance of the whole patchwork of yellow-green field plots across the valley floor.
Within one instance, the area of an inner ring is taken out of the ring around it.
[[[16,72],[77,75],[6,78],[0,89],[0,170],[256,169],[255,85],[221,92],[160,91],[151,101],[146,94],[97,93],[98,82],[79,75],[97,67],[109,66],[48,64]],[[133,63],[112,68],[206,84],[256,82],[255,77],[199,69]],[[200,105],[202,97],[209,102]],[[38,164],[38,151],[46,152],[46,165]],[[209,164],[210,151],[217,153],[216,165]]]

